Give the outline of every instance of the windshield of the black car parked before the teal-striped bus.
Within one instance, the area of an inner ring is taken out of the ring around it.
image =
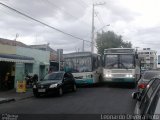
[[[61,80],[63,78],[63,73],[51,73],[44,77],[43,80]]]

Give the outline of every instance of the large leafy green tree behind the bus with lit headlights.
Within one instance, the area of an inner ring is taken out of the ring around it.
[[[131,42],[125,42],[121,35],[115,34],[113,31],[97,33],[96,47],[99,54],[104,53],[104,49],[108,48],[131,48]]]

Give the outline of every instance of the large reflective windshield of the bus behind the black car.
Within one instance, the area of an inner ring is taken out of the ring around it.
[[[91,57],[67,58],[65,60],[65,70],[74,72],[91,72]]]

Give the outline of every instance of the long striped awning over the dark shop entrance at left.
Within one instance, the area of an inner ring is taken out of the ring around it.
[[[34,58],[16,54],[0,54],[0,61],[16,63],[34,63]]]

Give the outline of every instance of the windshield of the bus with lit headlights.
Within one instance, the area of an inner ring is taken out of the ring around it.
[[[105,68],[131,69],[134,67],[134,55],[106,55]]]

